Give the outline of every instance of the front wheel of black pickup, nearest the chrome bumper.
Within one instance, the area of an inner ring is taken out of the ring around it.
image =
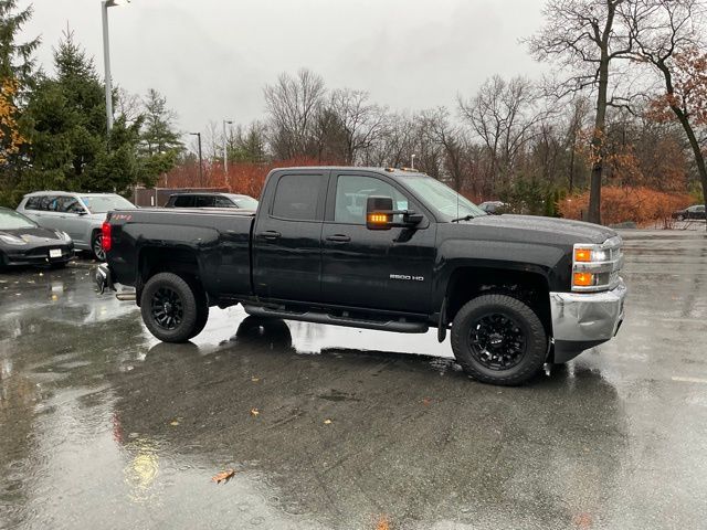
[[[456,361],[484,383],[524,383],[542,368],[547,347],[547,333],[537,314],[506,295],[474,298],[452,324]]]

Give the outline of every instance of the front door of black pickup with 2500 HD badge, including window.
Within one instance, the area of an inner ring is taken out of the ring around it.
[[[435,224],[425,219],[415,229],[370,231],[366,227],[369,195],[391,197],[395,209],[422,213],[392,181],[333,173],[323,231],[324,301],[431,312]]]

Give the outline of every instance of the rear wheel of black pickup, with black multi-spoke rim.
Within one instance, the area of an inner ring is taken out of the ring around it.
[[[209,306],[200,289],[186,279],[159,273],[143,289],[140,311],[147,329],[159,340],[186,342],[203,329]]]

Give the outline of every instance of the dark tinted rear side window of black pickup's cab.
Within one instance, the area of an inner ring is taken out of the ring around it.
[[[317,203],[326,184],[319,174],[285,174],[279,178],[273,201],[273,216],[316,221]]]

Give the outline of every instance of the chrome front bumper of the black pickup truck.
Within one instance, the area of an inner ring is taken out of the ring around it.
[[[624,316],[623,279],[603,293],[550,293],[555,362],[566,362],[616,335]]]

